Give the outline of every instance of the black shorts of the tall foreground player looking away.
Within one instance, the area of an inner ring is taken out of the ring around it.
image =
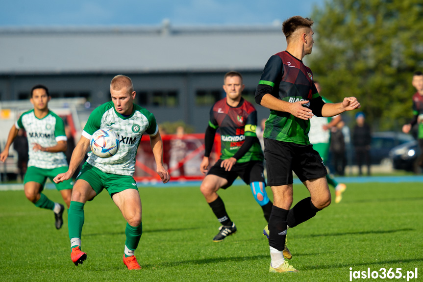
[[[323,160],[313,145],[299,145],[264,138],[268,186],[280,186],[294,182],[292,172],[301,182],[327,175]]]

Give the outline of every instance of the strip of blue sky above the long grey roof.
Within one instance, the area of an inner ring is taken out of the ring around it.
[[[0,26],[270,25],[323,0],[0,0]]]

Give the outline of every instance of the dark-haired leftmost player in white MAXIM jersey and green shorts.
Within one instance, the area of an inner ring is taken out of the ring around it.
[[[31,103],[34,108],[23,113],[9,131],[6,146],[0,154],[4,162],[9,155],[10,145],[15,140],[20,128],[26,130],[29,146],[28,168],[25,173],[24,190],[26,198],[41,208],[54,211],[56,229],[63,225],[64,206],[54,203],[42,193],[47,178],[52,180],[58,173],[68,170],[66,161],[67,138],[63,120],[49,110],[51,97],[46,86],[38,84],[31,89]],[[56,183],[56,189],[62,194],[69,207],[71,202],[71,180]]]

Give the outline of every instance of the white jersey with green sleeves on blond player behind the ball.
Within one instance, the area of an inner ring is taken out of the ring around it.
[[[154,115],[147,109],[134,104],[132,113],[129,116],[123,116],[115,110],[113,102],[110,101],[100,105],[90,114],[82,136],[91,140],[94,132],[100,128],[111,128],[118,134],[119,151],[109,158],[100,158],[90,152],[87,162],[105,173],[133,176],[135,156],[143,133],[147,132],[154,136],[158,132]]]

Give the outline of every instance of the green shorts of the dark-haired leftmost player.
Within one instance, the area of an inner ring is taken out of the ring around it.
[[[41,191],[44,189],[44,185],[46,184],[47,178],[54,183],[53,178],[55,178],[58,174],[64,173],[68,171],[68,166],[61,166],[57,168],[39,168],[36,166],[30,166],[26,170],[24,184],[29,181],[34,181],[41,184]],[[56,185],[57,190],[66,190],[72,189],[74,185],[72,179],[65,180],[60,183],[54,183]]]

